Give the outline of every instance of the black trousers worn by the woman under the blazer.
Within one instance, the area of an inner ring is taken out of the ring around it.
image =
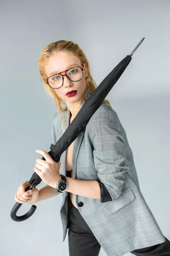
[[[133,250],[137,256],[170,256],[170,241],[150,247]],[[101,245],[95,238],[90,227],[82,218],[79,210],[74,207],[68,195],[68,246],[70,256],[98,256]]]

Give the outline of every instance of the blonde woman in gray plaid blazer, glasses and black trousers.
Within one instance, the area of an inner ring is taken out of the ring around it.
[[[56,144],[97,86],[84,52],[71,41],[46,46],[38,64],[42,84],[57,106],[51,127]],[[66,95],[71,90],[74,93]],[[47,156],[44,152],[39,151]],[[61,165],[48,156],[45,159],[51,161],[47,175],[51,182],[40,176],[47,185],[39,191],[29,190],[24,196],[26,181],[18,188],[15,200],[33,204],[58,195],[61,191],[54,189],[61,175],[66,176],[60,214],[63,241],[68,229],[70,256],[97,256],[101,246],[108,256],[128,252],[169,255],[170,241],[161,233],[143,198],[126,132],[108,100],[102,102],[85,129],[63,152]],[[37,160],[35,165],[38,175],[42,175],[42,161]]]

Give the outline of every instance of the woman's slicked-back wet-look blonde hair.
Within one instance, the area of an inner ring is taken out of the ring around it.
[[[88,77],[85,78],[86,88],[85,88],[85,92],[82,96],[83,103],[85,102],[85,99],[87,100],[86,94],[88,93],[88,91],[90,93],[94,93],[94,91],[97,88],[97,85],[96,85],[96,82],[94,81],[94,79],[91,76],[91,70],[90,70],[88,58],[86,57],[86,55],[82,51],[82,49],[80,49],[78,44],[74,44],[74,42],[72,42],[72,41],[60,40],[60,41],[56,41],[56,42],[53,42],[51,44],[48,44],[46,47],[44,47],[42,49],[40,58],[38,60],[40,80],[42,82],[43,87],[45,88],[47,96],[48,95],[51,96],[51,98],[54,100],[54,102],[56,104],[56,107],[57,107],[57,113],[58,113],[58,111],[62,113],[62,117],[63,117],[62,118],[62,123],[63,123],[63,120],[65,119],[65,111],[67,110],[67,106],[65,106],[65,108],[63,109],[62,106],[61,106],[61,103],[65,104],[65,105],[66,105],[66,103],[62,102],[62,99],[57,95],[55,90],[52,89],[47,84],[48,76],[47,76],[47,73],[45,71],[45,65],[47,64],[48,59],[50,58],[50,56],[53,55],[53,53],[60,52],[60,51],[61,52],[72,53],[72,54],[74,54],[74,56],[79,58],[82,65],[86,64],[86,67],[87,67],[87,70],[88,70]],[[111,107],[111,104],[110,104],[108,99],[104,99],[103,102],[105,102],[106,105],[108,105],[111,109],[113,109]],[[62,130],[64,131],[63,126],[62,126]]]

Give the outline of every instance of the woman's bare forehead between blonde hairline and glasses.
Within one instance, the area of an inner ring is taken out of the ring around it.
[[[63,72],[76,65],[80,66],[81,62],[72,53],[57,52],[49,57],[45,69],[47,75],[50,76],[50,74]]]

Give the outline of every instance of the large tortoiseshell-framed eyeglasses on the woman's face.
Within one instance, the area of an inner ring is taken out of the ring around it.
[[[65,72],[65,75],[61,75],[62,72]],[[71,67],[68,70],[62,72],[48,77],[47,84],[49,84],[52,89],[58,89],[62,86],[64,81],[63,76],[67,76],[69,80],[74,82],[83,78],[83,68],[79,66]]]

